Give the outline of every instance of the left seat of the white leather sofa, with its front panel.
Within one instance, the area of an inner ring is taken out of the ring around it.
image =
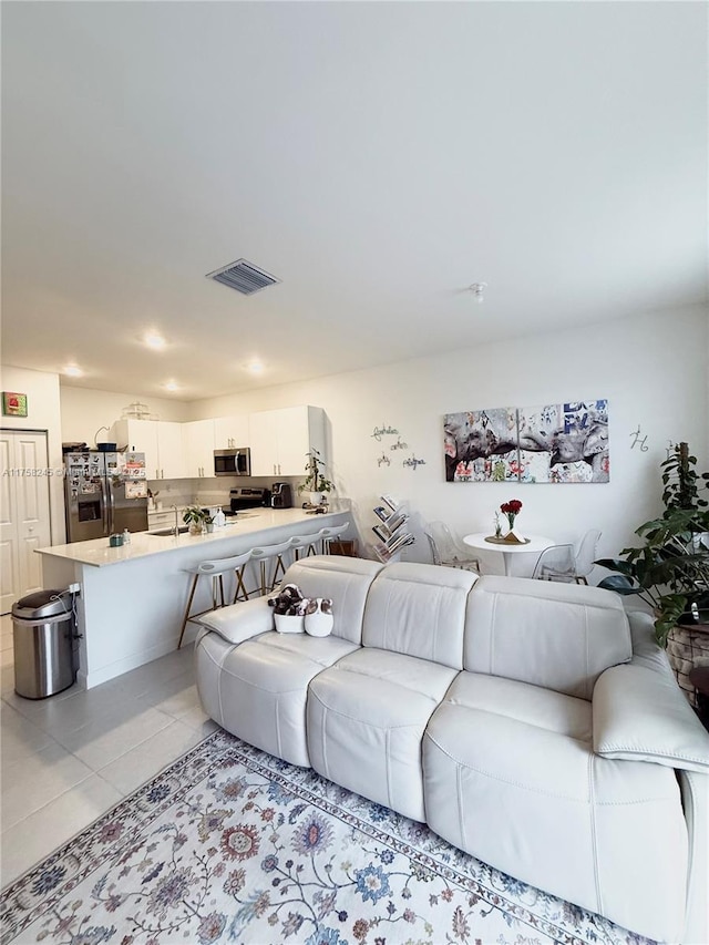
[[[233,647],[207,635],[196,649],[205,711],[223,728],[291,764],[309,767],[308,684],[357,648],[339,637],[270,631]]]

